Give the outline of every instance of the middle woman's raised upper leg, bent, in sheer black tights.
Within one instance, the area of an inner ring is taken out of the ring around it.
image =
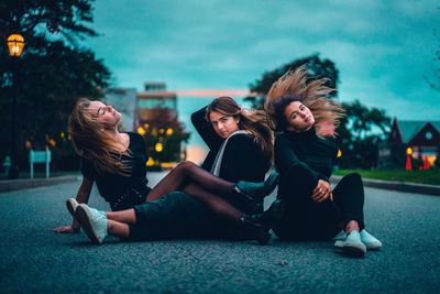
[[[180,162],[173,168],[148,194],[147,202],[154,202],[162,196],[177,189],[182,189],[187,184],[198,184],[205,190],[215,192],[219,194],[233,194],[237,193],[235,184],[224,181],[211,173],[205,171],[193,162]]]

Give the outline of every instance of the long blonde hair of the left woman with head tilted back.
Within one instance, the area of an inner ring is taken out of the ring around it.
[[[68,119],[68,132],[78,155],[90,160],[99,173],[129,176],[131,168],[121,161],[124,146],[114,141],[106,127],[89,111],[90,100],[79,99]]]

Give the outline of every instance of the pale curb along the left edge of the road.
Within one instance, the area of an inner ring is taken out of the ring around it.
[[[19,178],[19,179],[4,179],[0,181],[0,193],[25,189],[25,188],[34,188],[41,186],[51,186],[67,182],[79,181],[80,176],[78,175],[65,175],[65,176],[56,176],[50,178]]]

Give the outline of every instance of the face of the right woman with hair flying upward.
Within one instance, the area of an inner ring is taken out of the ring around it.
[[[287,130],[290,131],[307,131],[315,123],[310,109],[299,101],[290,102],[284,109],[284,116],[287,120]]]

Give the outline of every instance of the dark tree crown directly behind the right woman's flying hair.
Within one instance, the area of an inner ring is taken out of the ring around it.
[[[307,73],[310,79],[328,78],[326,86],[337,88],[339,83],[339,70],[334,66],[334,63],[330,59],[319,58],[319,54],[314,54],[308,57],[295,59],[288,64],[285,64],[278,68],[263,74],[262,78],[255,80],[250,85],[250,91],[254,92],[255,97],[248,97],[246,100],[252,102],[253,108],[262,108],[264,99],[271,89],[272,85],[283,76],[287,70],[295,70],[301,65],[307,65]],[[330,94],[336,97],[337,91]]]

